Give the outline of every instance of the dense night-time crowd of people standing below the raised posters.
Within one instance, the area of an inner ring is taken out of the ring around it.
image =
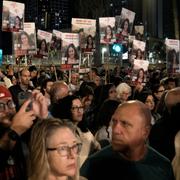
[[[179,180],[180,82],[162,72],[132,83],[122,67],[68,77],[53,65],[7,65],[0,179]]]

